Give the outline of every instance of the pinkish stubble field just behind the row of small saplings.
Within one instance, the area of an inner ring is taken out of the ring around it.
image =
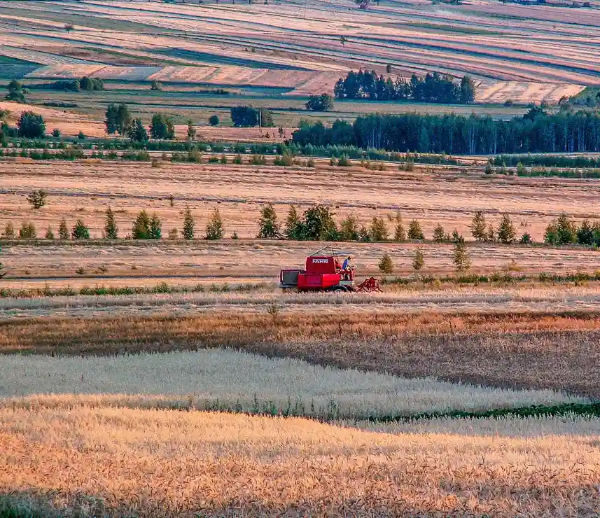
[[[99,160],[3,161],[0,226],[4,228],[11,221],[18,228],[21,221],[32,221],[39,235],[48,225],[56,234],[62,217],[70,225],[83,218],[91,237],[99,238],[104,211],[110,205],[116,213],[120,237],[130,233],[141,209],[158,214],[163,235],[167,235],[171,228],[181,230],[182,212],[187,205],[197,218],[199,237],[209,215],[218,207],[226,237],[235,231],[240,238],[252,238],[258,232],[264,204],[274,204],[283,222],[290,204],[305,209],[322,203],[333,207],[337,218],[354,214],[359,225],[369,225],[373,216],[385,218],[400,211],[405,226],[418,219],[428,239],[437,223],[447,232],[456,228],[468,238],[475,211],[484,211],[494,224],[506,213],[519,236],[529,232],[539,242],[543,241],[547,224],[562,213],[577,220],[600,216],[597,180],[487,177],[481,166],[484,158],[479,163],[479,167],[463,168],[417,165],[414,172],[407,173],[392,163],[385,171],[373,172],[358,165],[330,167],[322,160],[314,169],[170,162],[152,167],[149,162]],[[48,203],[39,211],[30,209],[25,200],[34,189],[48,193]],[[173,207],[169,195],[174,197]],[[240,217],[242,214],[244,217]],[[553,252],[544,254],[550,257]]]

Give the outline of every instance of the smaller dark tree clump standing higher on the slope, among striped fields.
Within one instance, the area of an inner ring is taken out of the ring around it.
[[[469,104],[475,100],[475,83],[464,76],[454,83],[452,76],[428,73],[424,78],[412,74],[410,80],[398,76],[395,81],[377,76],[375,71],[350,71],[333,88],[337,99],[371,101],[416,101],[446,104]]]

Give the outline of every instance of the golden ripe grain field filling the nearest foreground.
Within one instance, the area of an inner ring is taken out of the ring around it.
[[[464,421],[462,434],[434,421],[426,431],[387,426],[391,435],[73,402],[1,410],[0,491],[13,507],[41,506],[45,516],[48,507],[139,517],[597,514],[599,436],[585,418]],[[504,437],[540,426],[549,435]],[[490,428],[497,433],[481,436]]]

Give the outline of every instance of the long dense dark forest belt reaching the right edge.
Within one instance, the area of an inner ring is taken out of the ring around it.
[[[383,115],[370,113],[354,124],[337,120],[300,123],[296,144],[357,146],[387,151],[496,155],[600,151],[600,113],[546,113],[534,107],[522,117],[494,120],[471,115]]]

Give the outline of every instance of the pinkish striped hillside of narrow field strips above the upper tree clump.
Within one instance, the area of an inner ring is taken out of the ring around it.
[[[593,13],[491,1],[411,1],[367,10],[344,1],[160,7],[150,1],[16,1],[0,10],[3,52],[50,65],[34,76],[82,76],[74,66],[97,64],[95,74],[105,78],[284,86],[302,95],[332,87],[347,69],[384,70],[387,63],[393,73],[445,69],[487,80],[594,83],[600,26]],[[62,33],[47,22],[75,29]],[[190,65],[196,68],[186,69]],[[522,84],[513,90],[518,98]],[[522,100],[540,102],[546,94],[534,87]]]

